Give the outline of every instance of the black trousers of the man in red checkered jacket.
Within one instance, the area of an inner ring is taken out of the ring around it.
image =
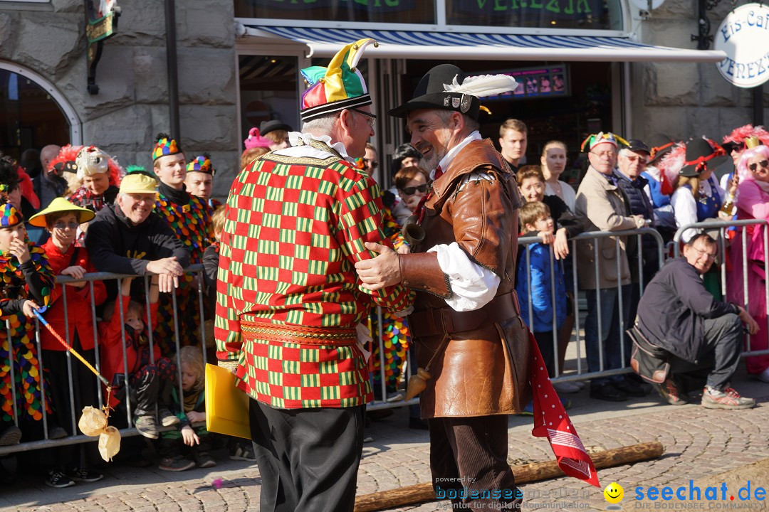
[[[352,512],[365,405],[276,409],[251,399],[261,512]]]

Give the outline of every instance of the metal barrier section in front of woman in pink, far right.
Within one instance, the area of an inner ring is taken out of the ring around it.
[[[747,259],[747,248],[748,248],[748,229],[753,228],[754,230],[761,230],[761,241],[762,241],[762,253],[764,255],[767,255],[767,249],[769,249],[769,222],[766,220],[761,219],[748,219],[748,220],[729,220],[729,221],[723,221],[723,220],[711,220],[701,223],[691,223],[686,224],[684,226],[681,226],[679,228],[674,237],[673,237],[673,253],[674,256],[680,256],[681,255],[681,242],[684,239],[684,234],[687,235],[687,240],[691,238],[691,236],[694,236],[694,233],[705,231],[705,232],[715,232],[717,231],[717,236],[714,236],[714,238],[717,241],[718,246],[718,253],[717,253],[717,261],[721,263],[720,265],[720,275],[721,275],[721,295],[724,296],[724,300],[731,295],[730,289],[729,289],[729,283],[727,280],[727,266],[729,263],[727,263],[727,259],[731,259],[731,256],[728,255],[727,249],[729,247],[734,247],[734,243],[737,243],[737,247],[741,249],[741,259],[738,262],[731,262],[731,264],[737,264],[742,269],[742,296],[744,298],[744,306],[745,309],[748,311],[750,310],[750,293],[748,291],[749,289],[749,278],[748,278],[748,259]],[[734,230],[735,235],[734,237],[727,236],[727,232]],[[764,276],[769,276],[769,259],[764,257],[763,262],[763,268]],[[739,285],[737,285],[739,286]],[[764,298],[766,301],[766,308],[764,310],[764,315],[766,315],[767,324],[766,329],[769,330],[769,280],[764,279]],[[745,350],[742,352],[742,356],[748,356],[748,355],[766,355],[769,354],[769,348],[763,349],[763,350],[751,350],[751,336],[746,335],[745,336]]]

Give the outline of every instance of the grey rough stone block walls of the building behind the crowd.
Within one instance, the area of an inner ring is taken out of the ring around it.
[[[105,41],[98,64],[99,92],[92,95],[86,88],[84,2],[0,0],[0,68],[19,66],[58,91],[75,113],[82,144],[102,147],[123,165],[150,167],[153,137],[170,130],[164,3],[131,0],[121,5],[118,33]],[[238,170],[243,133],[248,130],[238,110],[244,109],[238,100],[238,59],[244,55],[242,48],[255,39],[243,34],[233,4],[233,0],[176,2],[181,145],[188,159],[202,151],[211,153],[218,170],[214,195],[220,198],[226,196]],[[731,7],[722,2],[708,12],[711,33]],[[694,0],[666,0],[643,19],[629,3],[623,3],[623,10],[631,13],[624,30],[637,35],[636,40],[696,47],[691,41],[691,34],[697,31]],[[286,43],[298,48],[299,67],[309,64],[305,46]],[[622,63],[612,65],[612,74],[621,73]],[[396,66],[392,64],[392,68]],[[724,81],[716,64],[634,62],[629,71],[629,119],[618,121],[621,101],[614,91],[613,126],[604,129],[632,137],[661,133],[676,139],[700,134],[719,138],[752,121],[751,91]],[[397,87],[397,82],[393,84]],[[286,84],[287,89],[294,87],[298,86]],[[769,92],[764,93],[765,113],[767,107]],[[378,140],[380,147],[391,148],[403,141],[404,134],[391,131],[394,139]],[[45,144],[52,142],[61,144]]]

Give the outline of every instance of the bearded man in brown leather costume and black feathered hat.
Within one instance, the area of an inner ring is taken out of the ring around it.
[[[520,200],[510,167],[478,134],[478,83],[464,81],[459,68],[441,64],[389,112],[406,118],[432,171],[415,213],[424,240],[406,255],[367,245],[380,255],[355,266],[371,289],[402,282],[418,291],[408,322],[418,365],[431,374],[420,402],[437,496],[468,509],[517,509],[508,415],[528,403],[530,346],[513,287]]]

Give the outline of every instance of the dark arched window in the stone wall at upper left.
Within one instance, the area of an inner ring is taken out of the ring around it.
[[[39,164],[48,144],[70,142],[71,126],[56,101],[30,78],[0,68],[0,151]]]

